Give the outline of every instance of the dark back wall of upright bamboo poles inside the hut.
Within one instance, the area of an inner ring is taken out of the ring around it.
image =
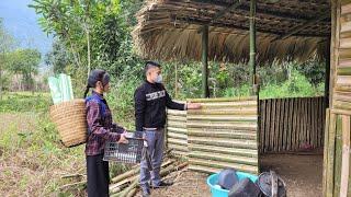
[[[322,147],[324,97],[260,100],[260,152]]]

